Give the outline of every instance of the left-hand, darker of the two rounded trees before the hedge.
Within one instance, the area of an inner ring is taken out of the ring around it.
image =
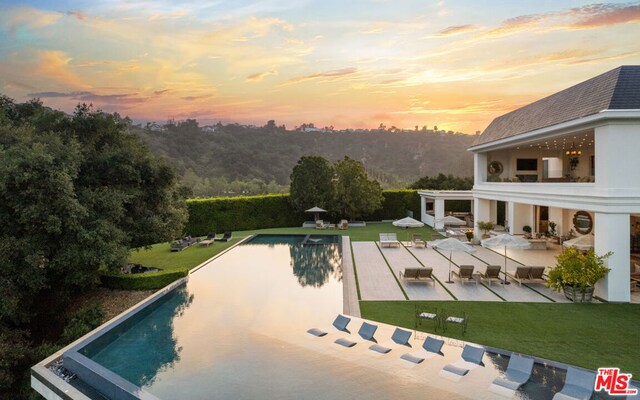
[[[291,173],[291,204],[300,212],[314,206],[330,208],[333,199],[332,179],[331,164],[323,157],[300,158]]]

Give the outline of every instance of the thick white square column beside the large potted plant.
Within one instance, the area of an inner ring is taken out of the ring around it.
[[[596,254],[613,252],[606,261],[611,271],[596,284],[595,295],[607,301],[629,302],[630,246],[629,214],[595,213],[594,249]]]

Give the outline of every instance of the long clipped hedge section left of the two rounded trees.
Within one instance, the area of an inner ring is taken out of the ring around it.
[[[187,208],[185,233],[191,236],[298,226],[305,217],[293,210],[288,194],[191,199]]]

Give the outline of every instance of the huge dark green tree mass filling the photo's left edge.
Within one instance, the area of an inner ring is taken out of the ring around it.
[[[117,115],[0,99],[0,325],[57,312],[185,220],[172,168]]]

